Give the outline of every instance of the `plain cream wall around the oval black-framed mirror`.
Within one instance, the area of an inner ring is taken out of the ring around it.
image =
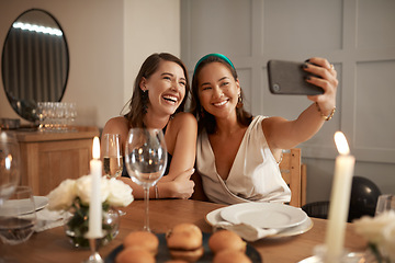
[[[80,125],[103,127],[120,114],[148,55],[180,55],[179,0],[0,0],[1,46],[12,22],[32,8],[52,13],[65,32],[70,70],[63,101],[77,102]],[[0,117],[19,118],[2,82]]]

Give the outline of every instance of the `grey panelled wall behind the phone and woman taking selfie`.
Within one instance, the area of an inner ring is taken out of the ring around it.
[[[223,53],[235,64],[253,114],[295,118],[304,96],[272,95],[269,59],[326,57],[338,71],[337,112],[301,145],[307,164],[307,202],[329,199],[342,130],[357,158],[356,175],[395,193],[395,1],[183,0],[181,58]]]

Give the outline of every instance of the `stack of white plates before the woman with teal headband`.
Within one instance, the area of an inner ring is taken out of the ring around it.
[[[213,210],[206,215],[213,227],[221,222],[246,224],[256,228],[275,229],[264,238],[291,237],[308,231],[312,219],[301,208],[276,203],[244,203]]]

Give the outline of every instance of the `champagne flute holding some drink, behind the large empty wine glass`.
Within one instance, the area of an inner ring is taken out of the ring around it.
[[[121,152],[119,134],[105,134],[103,136],[103,170],[108,178],[119,178],[123,170],[123,157]]]

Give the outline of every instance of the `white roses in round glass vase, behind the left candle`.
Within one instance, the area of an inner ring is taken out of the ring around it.
[[[91,175],[77,180],[67,179],[48,194],[48,209],[71,213],[65,229],[75,247],[89,248],[88,232],[89,204],[91,196]],[[127,206],[134,197],[132,187],[116,179],[101,178],[101,202],[103,209],[102,228],[105,236],[101,244],[105,244],[119,232],[119,214],[112,207]]]

